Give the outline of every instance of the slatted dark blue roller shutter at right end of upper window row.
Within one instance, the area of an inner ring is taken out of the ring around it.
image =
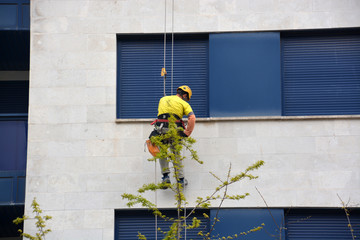
[[[283,115],[360,114],[360,34],[282,35]]]

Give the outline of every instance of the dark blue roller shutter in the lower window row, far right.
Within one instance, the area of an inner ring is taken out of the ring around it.
[[[360,212],[350,211],[354,235],[360,236]],[[353,239],[343,209],[290,210],[286,216],[287,240]]]

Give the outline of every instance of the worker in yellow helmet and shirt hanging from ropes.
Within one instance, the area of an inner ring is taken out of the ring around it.
[[[176,124],[178,127],[182,127],[184,131],[179,131],[180,136],[188,137],[191,135],[195,127],[196,117],[195,114],[188,103],[192,96],[191,89],[186,86],[180,86],[176,90],[176,95],[162,97],[159,101],[158,107],[158,119],[155,120],[155,129],[150,134],[152,136],[157,136],[165,134],[168,131],[168,122],[166,121],[171,115],[174,116],[177,121]],[[182,118],[184,115],[188,117],[187,127],[183,125]],[[160,159],[160,167],[162,173],[162,183],[170,184],[170,169],[169,161],[167,159]],[[183,166],[181,163],[177,164],[178,169],[178,183],[182,186],[187,185],[187,180],[184,178]],[[167,187],[164,187],[167,188]]]

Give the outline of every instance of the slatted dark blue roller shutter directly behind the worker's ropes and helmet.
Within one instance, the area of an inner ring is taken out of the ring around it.
[[[154,118],[164,93],[162,36],[118,36],[117,117]],[[178,36],[174,41],[171,89],[171,39],[167,40],[166,95],[180,85],[193,91],[190,101],[197,117],[208,117],[208,36]]]

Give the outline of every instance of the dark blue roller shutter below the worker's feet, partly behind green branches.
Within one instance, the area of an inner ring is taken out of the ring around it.
[[[167,217],[175,218],[177,213],[175,210],[162,211]],[[208,211],[206,212],[207,214]],[[204,233],[209,231],[209,219],[204,218],[202,211],[191,216],[188,223],[191,223],[192,218],[196,217],[201,220],[200,227],[197,229],[188,229],[186,231],[186,239],[203,239],[198,236],[199,231]],[[161,228],[162,231],[168,231],[172,222],[164,221],[158,218],[157,227]],[[138,233],[146,236],[148,240],[155,240],[155,217],[147,210],[124,210],[116,211],[115,213],[115,240],[137,240]],[[158,239],[163,239],[164,235],[158,232]],[[185,239],[182,237],[181,239]]]

